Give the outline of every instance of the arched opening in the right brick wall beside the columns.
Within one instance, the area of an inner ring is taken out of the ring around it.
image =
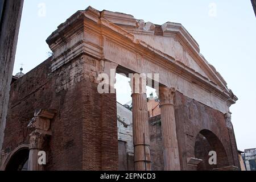
[[[209,164],[209,152],[215,151],[217,157],[216,164]],[[203,161],[197,165],[199,171],[209,171],[215,168],[229,166],[228,158],[224,146],[220,139],[209,130],[201,130],[196,137],[195,157]]]

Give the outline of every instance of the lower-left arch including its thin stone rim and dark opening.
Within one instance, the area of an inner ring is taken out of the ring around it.
[[[27,144],[22,144],[15,148],[7,157],[3,165],[5,171],[26,171],[29,156],[29,148]]]

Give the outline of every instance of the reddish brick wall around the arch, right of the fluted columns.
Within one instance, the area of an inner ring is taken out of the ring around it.
[[[236,143],[229,135],[224,113],[176,92],[175,119],[181,169],[195,169],[187,165],[187,158],[195,157],[196,138],[200,132],[217,152],[217,167],[218,164],[239,167],[238,154],[233,152]]]

